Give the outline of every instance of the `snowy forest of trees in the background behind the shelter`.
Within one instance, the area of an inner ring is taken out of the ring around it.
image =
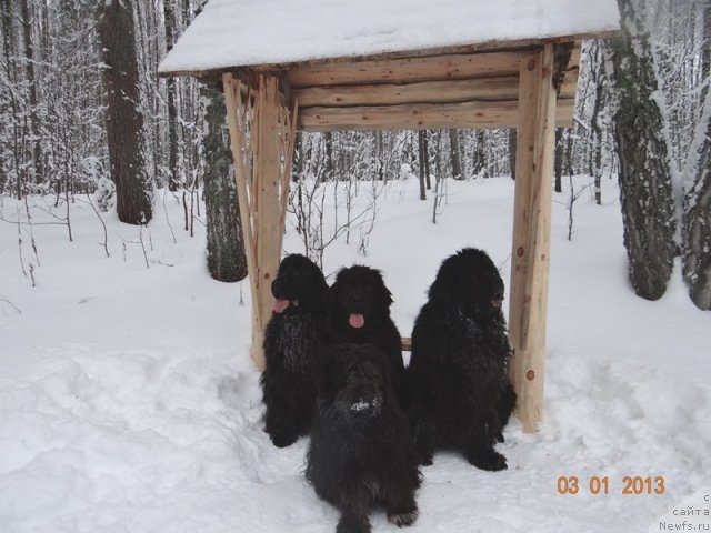
[[[710,309],[711,7],[702,0],[619,3],[622,37],[583,46],[574,125],[555,132],[555,191],[571,180],[564,201],[572,224],[581,189],[592,189],[600,202],[600,182],[619,177],[635,291],[660,298],[681,255],[691,299]],[[146,224],[156,192],[168,190],[183,205],[184,231],[207,223],[211,274],[246,275],[236,252],[239,217],[222,97],[192,78],[156,73],[199,10],[194,0],[1,2],[0,194],[24,207],[2,220],[4,231],[31,224],[38,199],[48,195],[70,239],[78,201],[100,211],[116,204],[120,220]],[[112,62],[134,80],[122,88],[123,101],[109,95]],[[114,120],[127,115],[123,124]],[[324,183],[336,182],[336,194],[348,197],[361,182],[419,179],[435,221],[445,180],[514,178],[514,130],[301,134],[290,210],[304,251],[322,257],[351,217],[369,218],[349,212],[344,224],[323,234]],[[591,180],[573,182],[578,175]],[[31,249],[23,253],[29,269]]]

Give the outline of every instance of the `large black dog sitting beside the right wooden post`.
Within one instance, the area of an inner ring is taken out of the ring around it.
[[[504,470],[495,452],[515,405],[507,375],[511,346],[503,281],[485,252],[465,248],[444,260],[412,330],[410,420],[420,463],[459,450],[482,470]]]

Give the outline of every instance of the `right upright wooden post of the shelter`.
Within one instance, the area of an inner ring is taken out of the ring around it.
[[[509,335],[515,414],[527,433],[543,415],[543,369],[555,125],[553,46],[522,57]]]

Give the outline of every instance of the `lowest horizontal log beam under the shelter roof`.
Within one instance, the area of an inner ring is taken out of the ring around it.
[[[561,127],[572,122],[572,100],[558,108]],[[449,128],[515,128],[518,104],[505,102],[462,102],[447,104],[362,105],[354,108],[300,109],[301,131],[424,130]]]

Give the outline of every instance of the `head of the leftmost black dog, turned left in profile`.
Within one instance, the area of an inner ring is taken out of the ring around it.
[[[321,269],[310,259],[299,253],[287,255],[271,282],[274,313],[319,312],[326,305],[328,288]]]

